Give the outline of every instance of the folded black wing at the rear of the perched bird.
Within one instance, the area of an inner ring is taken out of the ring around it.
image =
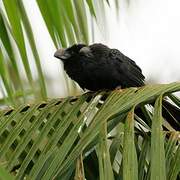
[[[124,87],[143,86],[144,75],[141,68],[117,49],[111,49],[110,60],[114,62]]]

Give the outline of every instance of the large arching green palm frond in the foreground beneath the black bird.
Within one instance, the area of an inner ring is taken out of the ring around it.
[[[180,84],[172,83],[87,93],[1,113],[0,162],[9,172],[16,174],[16,179],[71,179],[75,171],[76,177],[83,177],[84,173],[86,177],[86,172],[91,170],[88,164],[84,164],[87,157],[91,163],[99,162],[100,174],[91,171],[91,176],[96,178],[116,179],[123,176],[129,179],[133,175],[135,179],[138,176],[148,179],[163,175],[175,179],[179,173],[177,142],[180,134],[174,131],[168,132],[171,138],[162,136],[167,132],[162,131],[159,103],[162,94],[179,90]],[[133,112],[135,106],[144,106],[154,100],[157,103],[149,131],[142,124],[140,128]],[[126,120],[122,114],[128,115]],[[110,123],[112,121],[116,123]],[[121,128],[117,129],[120,130],[117,133],[120,132],[123,138],[116,138],[117,147],[113,145],[114,156],[111,158],[112,148],[108,148],[108,142],[114,142],[116,136],[111,137],[110,134],[119,125]],[[152,135],[149,134],[151,131]],[[157,143],[157,139],[161,142]],[[150,142],[154,143],[151,153],[149,146],[145,146]],[[158,153],[153,151],[164,151],[163,158],[156,157]],[[91,159],[91,155],[95,158]],[[156,158],[159,158],[158,162]],[[141,167],[140,172],[137,171],[138,166]]]

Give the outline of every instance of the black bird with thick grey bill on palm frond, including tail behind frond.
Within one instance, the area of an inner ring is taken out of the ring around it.
[[[142,70],[133,60],[103,44],[75,44],[57,50],[54,56],[63,61],[66,73],[82,89],[98,91],[145,85]],[[180,129],[179,108],[164,100],[162,113],[175,129]]]

